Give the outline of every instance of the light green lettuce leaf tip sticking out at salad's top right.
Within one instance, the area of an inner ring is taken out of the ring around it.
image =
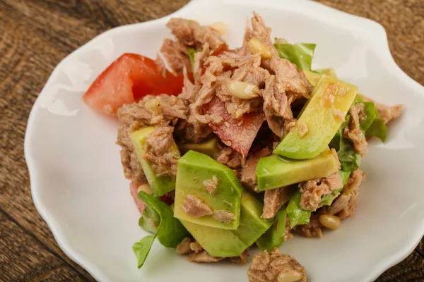
[[[278,56],[295,63],[301,70],[310,70],[312,58],[317,44],[298,43],[298,44],[274,44],[278,51]]]

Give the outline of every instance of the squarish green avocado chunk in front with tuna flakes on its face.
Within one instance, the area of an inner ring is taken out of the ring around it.
[[[216,180],[215,188],[208,190],[205,183],[213,179]],[[240,223],[242,191],[243,186],[232,169],[191,150],[178,161],[174,216],[202,226],[235,230]],[[213,214],[196,217],[184,212],[183,205],[189,195],[201,200]],[[233,218],[223,221],[217,216],[220,212]]]

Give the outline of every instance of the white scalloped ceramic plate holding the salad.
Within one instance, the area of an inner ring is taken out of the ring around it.
[[[273,36],[317,43],[315,68],[331,66],[361,93],[405,104],[387,142],[370,142],[355,216],[321,240],[296,237],[281,247],[305,266],[310,281],[372,281],[404,259],[424,233],[424,87],[396,66],[381,25],[312,1],[196,0],[171,16],[227,23],[226,39],[237,47],[252,11],[264,17]],[[247,281],[248,266],[192,264],[158,243],[143,269],[136,268],[131,245],[146,233],[137,225],[114,145],[118,124],[81,99],[122,53],[155,57],[169,36],[171,16],[105,32],[54,69],[25,137],[35,206],[66,255],[99,281]]]

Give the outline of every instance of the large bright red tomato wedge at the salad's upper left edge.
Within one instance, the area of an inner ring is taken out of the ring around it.
[[[175,77],[158,71],[155,61],[126,53],[103,71],[88,88],[83,100],[94,109],[116,116],[123,104],[139,101],[147,94],[181,93],[183,75]]]

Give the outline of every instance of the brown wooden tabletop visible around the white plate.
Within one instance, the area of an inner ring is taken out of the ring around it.
[[[319,2],[382,23],[396,63],[424,85],[424,0]],[[94,280],[59,249],[34,207],[23,157],[28,114],[54,66],[71,51],[112,27],[160,18],[186,3],[0,0],[0,281]],[[377,281],[423,277],[421,241]]]

